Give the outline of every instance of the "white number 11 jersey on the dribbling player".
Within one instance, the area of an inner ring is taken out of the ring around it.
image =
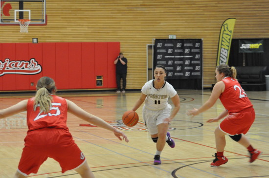
[[[164,109],[168,105],[168,98],[173,98],[177,94],[174,87],[165,81],[164,85],[160,89],[155,89],[153,86],[154,79],[146,82],[141,91],[144,95],[147,95],[145,100],[145,108],[149,110]]]

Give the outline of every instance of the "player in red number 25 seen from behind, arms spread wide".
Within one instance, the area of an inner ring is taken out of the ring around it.
[[[94,178],[85,156],[68,130],[67,112],[112,131],[120,140],[129,141],[123,132],[84,111],[72,101],[55,96],[55,92],[53,79],[42,77],[37,83],[34,98],[0,110],[0,119],[27,111],[29,130],[24,139],[22,158],[15,178],[26,178],[30,173],[37,173],[48,157],[60,163],[62,173],[75,170],[82,178]]]

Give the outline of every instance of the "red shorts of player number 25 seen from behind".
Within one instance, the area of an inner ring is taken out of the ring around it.
[[[62,173],[80,167],[84,157],[71,134],[64,129],[39,129],[31,131],[24,139],[22,158],[18,171],[27,176],[37,173],[47,158],[60,163]]]

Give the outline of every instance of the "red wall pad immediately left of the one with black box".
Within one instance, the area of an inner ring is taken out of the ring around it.
[[[94,42],[81,43],[81,59],[82,59],[82,88],[95,88],[95,45]]]

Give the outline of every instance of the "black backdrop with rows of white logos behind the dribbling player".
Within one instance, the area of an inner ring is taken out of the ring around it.
[[[175,89],[202,89],[202,39],[156,39],[154,66],[167,70]]]

